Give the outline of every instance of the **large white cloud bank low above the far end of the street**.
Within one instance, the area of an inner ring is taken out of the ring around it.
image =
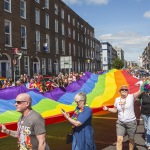
[[[113,47],[121,48],[125,53],[125,59],[137,61],[142,55],[145,47],[150,42],[150,36],[143,36],[134,32],[121,31],[115,34],[103,34],[99,36],[100,41],[107,41]]]

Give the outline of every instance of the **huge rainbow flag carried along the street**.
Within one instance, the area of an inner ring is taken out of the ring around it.
[[[56,88],[52,92],[41,94],[38,90],[28,90],[24,86],[10,87],[0,90],[0,122],[6,124],[9,129],[16,129],[16,123],[20,113],[16,112],[15,98],[20,93],[28,93],[32,97],[32,108],[39,112],[46,124],[64,121],[61,108],[72,113],[76,107],[74,96],[78,92],[87,94],[87,104],[93,113],[101,111],[102,106],[112,106],[119,96],[121,85],[128,85],[130,93],[136,92],[135,86],[138,79],[132,77],[125,70],[110,70],[98,75],[86,72],[80,80],[72,82],[64,88]],[[0,137],[5,136],[0,133]]]

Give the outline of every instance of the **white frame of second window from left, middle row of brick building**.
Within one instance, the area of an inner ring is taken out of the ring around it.
[[[24,35],[23,35],[24,29]],[[22,41],[24,41],[24,46],[22,45]],[[21,48],[27,48],[27,28],[26,26],[21,25]]]

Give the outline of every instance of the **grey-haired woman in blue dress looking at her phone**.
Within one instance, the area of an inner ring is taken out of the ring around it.
[[[74,100],[77,107],[72,117],[62,110],[62,114],[72,125],[72,150],[96,150],[92,127],[92,110],[86,106],[86,94],[80,92],[75,95]]]

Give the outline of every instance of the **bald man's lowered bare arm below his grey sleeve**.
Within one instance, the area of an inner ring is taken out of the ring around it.
[[[37,135],[36,137],[39,142],[38,150],[45,150],[46,148],[45,133]]]

